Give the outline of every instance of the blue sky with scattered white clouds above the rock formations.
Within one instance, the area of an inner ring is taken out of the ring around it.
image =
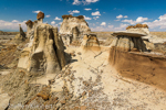
[[[45,23],[61,25],[63,14],[85,15],[92,31],[123,31],[146,23],[151,31],[166,30],[166,0],[1,0],[0,30],[19,31],[19,24],[45,13]]]

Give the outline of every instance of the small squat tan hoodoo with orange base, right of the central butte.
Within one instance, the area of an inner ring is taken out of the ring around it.
[[[100,50],[100,42],[95,34],[86,34],[82,40],[81,47],[85,51],[98,51]]]

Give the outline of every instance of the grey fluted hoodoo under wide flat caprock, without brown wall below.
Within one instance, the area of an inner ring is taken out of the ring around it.
[[[133,50],[137,50],[141,52],[146,52],[146,45],[144,44],[141,36],[145,36],[145,34],[141,33],[132,33],[132,32],[114,32],[113,35],[117,35],[111,47],[114,46],[116,48],[129,52]]]

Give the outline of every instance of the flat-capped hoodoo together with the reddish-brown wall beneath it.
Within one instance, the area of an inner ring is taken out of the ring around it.
[[[117,37],[112,42],[110,64],[125,77],[165,88],[164,81],[166,57],[146,52],[146,45],[141,36],[146,34],[134,32],[114,32]],[[144,53],[139,53],[144,52]],[[158,80],[159,79],[159,80]]]

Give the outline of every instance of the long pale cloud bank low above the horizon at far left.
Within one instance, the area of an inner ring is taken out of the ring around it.
[[[27,30],[27,25],[25,25],[27,21],[18,21],[18,20],[12,20],[10,21],[4,21],[4,20],[0,20],[0,30],[12,30],[12,31],[19,31],[19,24],[21,24],[21,28],[25,31]]]

